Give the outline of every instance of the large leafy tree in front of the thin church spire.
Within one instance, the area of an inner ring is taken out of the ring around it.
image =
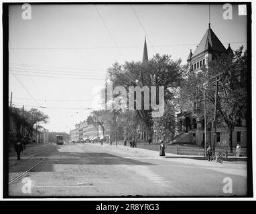
[[[108,69],[109,79],[113,81],[113,87],[123,86],[127,92],[129,91],[129,86],[139,86],[141,88],[143,86],[164,86],[164,99],[170,100],[174,98],[172,88],[179,86],[182,80],[184,68],[182,68],[180,63],[181,60],[174,61],[171,59],[171,56],[160,56],[159,54],[153,56],[153,58],[146,63],[125,62],[123,65],[116,63]],[[145,124],[151,138],[151,128],[153,126],[151,116],[152,108],[150,106],[149,110],[143,109],[143,96],[144,94],[142,93],[141,110],[136,111],[141,121]],[[150,102],[151,100],[149,100],[149,103]]]

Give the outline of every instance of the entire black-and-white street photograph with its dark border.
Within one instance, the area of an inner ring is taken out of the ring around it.
[[[2,6],[4,197],[253,197],[250,2]]]

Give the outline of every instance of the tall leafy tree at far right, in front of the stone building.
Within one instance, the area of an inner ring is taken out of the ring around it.
[[[216,108],[229,131],[229,147],[233,152],[232,136],[237,120],[247,114],[247,50],[243,46],[231,54],[223,54],[209,63],[208,76],[221,73]],[[208,100],[214,103],[212,88]]]

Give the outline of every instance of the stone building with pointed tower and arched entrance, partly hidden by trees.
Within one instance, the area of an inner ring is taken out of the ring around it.
[[[216,56],[232,51],[231,46],[225,48],[221,41],[212,31],[210,24],[200,43],[196,47],[194,53],[190,49],[188,55],[188,67],[191,72],[198,72],[207,68],[209,60],[214,60]],[[194,100],[193,112],[179,112],[177,114],[177,121],[180,124],[178,129],[178,136],[174,142],[187,142],[202,145],[204,142],[204,118],[198,117],[198,113],[202,111],[202,100]],[[207,144],[213,142],[212,124],[206,125],[206,140]],[[233,131],[233,146],[239,143],[241,146],[247,146],[247,128],[246,121],[241,118],[237,122],[235,130]],[[216,146],[229,146],[229,132],[227,127],[216,128]]]

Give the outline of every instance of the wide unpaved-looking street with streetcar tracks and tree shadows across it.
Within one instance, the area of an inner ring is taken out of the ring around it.
[[[246,162],[208,162],[109,144],[28,145],[9,156],[9,195],[25,197],[170,197],[246,195]],[[31,193],[24,185],[31,181]]]

